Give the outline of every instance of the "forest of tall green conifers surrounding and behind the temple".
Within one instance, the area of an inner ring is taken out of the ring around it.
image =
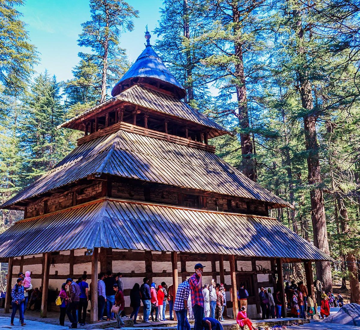
[[[73,78],[57,81],[34,70],[24,2],[0,0],[0,203],[76,146],[80,133],[57,125],[107,99],[131,64],[121,36],[141,8],[89,4]],[[357,303],[359,13],[358,0],[164,0],[152,32],[185,102],[234,133],[210,141],[217,154],[294,206],[270,215],[338,261],[316,276],[326,290],[349,280]],[[23,216],[0,212],[2,229]]]

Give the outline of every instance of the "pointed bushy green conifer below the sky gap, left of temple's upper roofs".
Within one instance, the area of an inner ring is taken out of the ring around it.
[[[64,121],[60,104],[60,84],[48,72],[34,79],[30,95],[24,99],[26,111],[21,123],[21,144],[26,157],[24,183],[53,168],[72,145],[55,128]]]

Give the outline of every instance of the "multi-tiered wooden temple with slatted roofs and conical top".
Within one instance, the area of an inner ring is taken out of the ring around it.
[[[113,97],[60,125],[84,132],[75,150],[1,206],[24,210],[0,235],[6,312],[19,271],[42,287],[43,317],[49,290],[87,272],[95,321],[100,271],[122,272],[128,307],[144,276],[177,287],[201,262],[203,283],[216,278],[235,293],[245,283],[248,315],[257,317],[261,286],[279,284],[284,297],[283,262],[304,262],[313,291],[311,262],[330,260],[269,217],[289,203],[215,154],[208,141],[228,131],[181,100],[184,88],[145,37]]]

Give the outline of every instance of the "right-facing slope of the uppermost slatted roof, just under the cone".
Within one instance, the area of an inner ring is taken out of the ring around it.
[[[131,104],[139,105],[146,109],[152,109],[168,115],[191,120],[192,122],[219,130],[222,134],[229,133],[224,127],[195,110],[185,102],[180,101],[173,96],[151,90],[150,88],[135,85],[117,95],[116,98]]]

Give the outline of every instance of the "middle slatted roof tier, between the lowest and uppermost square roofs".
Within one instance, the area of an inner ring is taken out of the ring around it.
[[[78,146],[53,170],[5,202],[2,207],[86,178],[90,174],[111,174],[250,198],[277,207],[290,206],[212,152],[119,130]]]

